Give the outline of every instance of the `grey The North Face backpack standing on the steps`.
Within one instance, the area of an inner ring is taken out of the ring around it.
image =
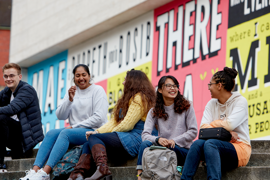
[[[143,151],[142,180],[179,180],[181,174],[176,169],[176,153],[170,149],[155,149],[158,146],[146,148]],[[152,149],[152,150],[150,150]]]

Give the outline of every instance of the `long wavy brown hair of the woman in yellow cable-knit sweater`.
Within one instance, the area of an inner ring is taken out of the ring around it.
[[[125,79],[124,93],[121,98],[117,101],[114,107],[114,118],[119,124],[126,116],[128,112],[128,104],[130,99],[134,101],[134,97],[137,93],[140,93],[142,104],[140,104],[141,111],[144,110],[144,114],[154,106],[155,103],[155,89],[146,74],[140,70],[130,70],[127,72]],[[137,102],[135,102],[137,103]],[[119,118],[119,112],[122,109],[121,119]],[[118,125],[117,124],[117,125]]]

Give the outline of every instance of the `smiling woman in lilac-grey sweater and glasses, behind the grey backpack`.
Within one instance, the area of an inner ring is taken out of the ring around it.
[[[159,137],[152,135],[158,126]],[[176,152],[178,166],[184,165],[188,149],[198,133],[193,105],[179,91],[179,83],[173,76],[163,76],[158,82],[156,103],[146,118],[142,133],[137,170],[142,168],[143,150],[152,146],[164,146]],[[140,180],[140,176],[138,176]]]

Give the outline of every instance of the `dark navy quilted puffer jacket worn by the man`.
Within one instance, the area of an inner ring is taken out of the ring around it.
[[[8,87],[0,92],[0,114],[18,116],[22,125],[23,150],[26,152],[44,139],[38,95],[31,85],[23,81],[19,82],[10,103],[11,95]]]

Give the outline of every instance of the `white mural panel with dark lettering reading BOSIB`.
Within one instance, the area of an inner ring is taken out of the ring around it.
[[[86,64],[95,82],[152,61],[153,10],[68,49],[67,85],[73,67]]]

